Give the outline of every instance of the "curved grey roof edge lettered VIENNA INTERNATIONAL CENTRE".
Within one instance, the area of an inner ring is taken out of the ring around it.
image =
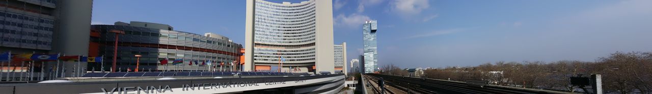
[[[0,93],[337,93],[342,74],[273,76],[138,76],[126,78],[188,78],[175,80],[120,80],[62,83],[0,84]],[[121,77],[67,78],[68,80],[125,79]],[[66,78],[64,78],[66,79]]]

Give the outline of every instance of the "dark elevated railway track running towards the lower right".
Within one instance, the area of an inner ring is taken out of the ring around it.
[[[367,74],[367,78],[383,78],[385,84],[389,86],[402,88],[402,91],[408,93],[568,93],[561,91],[550,91],[542,89],[514,88],[507,86],[469,86],[466,82],[457,82],[449,80],[437,80],[430,78],[415,78],[393,75]]]

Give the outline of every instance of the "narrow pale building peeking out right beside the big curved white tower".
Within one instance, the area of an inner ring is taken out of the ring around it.
[[[334,47],[334,57],[335,57],[335,73],[344,73],[348,74],[347,71],[347,61],[346,61],[346,42],[342,45],[333,45]]]

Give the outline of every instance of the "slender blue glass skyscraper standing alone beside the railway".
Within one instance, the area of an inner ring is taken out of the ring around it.
[[[364,73],[374,73],[374,71],[378,71],[378,45],[376,41],[376,30],[378,30],[378,21],[364,21]]]

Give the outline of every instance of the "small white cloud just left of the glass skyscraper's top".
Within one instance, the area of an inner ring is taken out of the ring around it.
[[[349,16],[344,16],[344,14],[340,14],[335,17],[335,25],[342,26],[342,27],[348,27],[348,28],[354,28],[354,27],[360,27],[363,25],[364,21],[370,20],[369,16],[364,16],[361,14],[351,14]]]

